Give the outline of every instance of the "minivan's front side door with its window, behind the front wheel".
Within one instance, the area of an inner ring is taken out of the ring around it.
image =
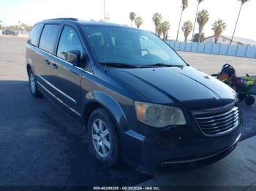
[[[84,54],[83,46],[80,43],[77,32],[70,26],[64,26],[56,57],[51,64],[50,83],[52,91],[61,101],[62,105],[71,114],[80,115],[80,82],[83,70],[67,61],[67,52],[71,50],[80,51],[81,57]]]

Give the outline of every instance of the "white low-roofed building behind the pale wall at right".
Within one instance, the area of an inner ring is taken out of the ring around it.
[[[219,40],[217,43],[219,44],[230,44],[232,36],[219,36]],[[205,39],[206,43],[214,43],[215,39],[214,36],[208,36]],[[246,39],[241,37],[234,36],[232,44],[234,45],[245,45],[245,46],[256,46],[256,41],[252,39]]]

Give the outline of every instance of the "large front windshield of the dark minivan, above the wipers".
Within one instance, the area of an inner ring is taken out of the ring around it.
[[[187,66],[165,42],[148,31],[83,26],[99,63],[129,66]]]

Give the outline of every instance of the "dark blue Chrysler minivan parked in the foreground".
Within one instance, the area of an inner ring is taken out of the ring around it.
[[[236,92],[149,31],[43,20],[29,35],[26,69],[31,95],[83,124],[107,165],[157,171],[225,156],[241,136]]]

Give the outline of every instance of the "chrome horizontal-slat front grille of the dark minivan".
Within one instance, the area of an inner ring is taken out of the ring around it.
[[[236,129],[240,122],[238,106],[194,111],[192,114],[202,132],[207,136],[219,136]]]

